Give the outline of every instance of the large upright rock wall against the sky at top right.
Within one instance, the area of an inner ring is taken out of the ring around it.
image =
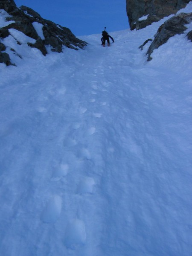
[[[126,0],[131,30],[142,29],[163,17],[175,14],[191,0]],[[145,16],[145,19],[141,19]],[[146,17],[147,16],[147,17]]]

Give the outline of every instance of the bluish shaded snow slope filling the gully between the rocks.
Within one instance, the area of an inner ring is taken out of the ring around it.
[[[192,255],[190,26],[138,49],[163,22],[46,57],[4,39],[0,255]]]

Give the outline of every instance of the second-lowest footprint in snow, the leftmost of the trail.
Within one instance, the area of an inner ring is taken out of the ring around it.
[[[61,214],[61,207],[62,207],[62,199],[58,195],[52,196],[47,202],[42,214],[41,214],[41,221],[45,223],[55,223],[60,214]]]

